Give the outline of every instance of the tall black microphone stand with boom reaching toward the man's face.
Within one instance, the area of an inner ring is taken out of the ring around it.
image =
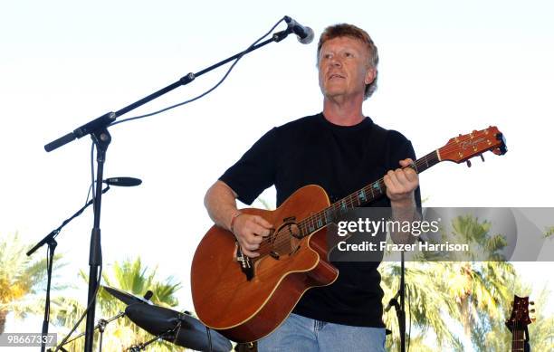
[[[285,18],[283,18],[284,20]],[[222,62],[215,63],[214,65],[206,68],[205,70],[198,71],[196,73],[188,73],[186,76],[181,77],[178,81],[168,85],[166,88],[162,88],[147,97],[138,100],[129,106],[119,109],[116,112],[108,112],[100,118],[93,119],[90,122],[82,125],[80,128],[76,128],[72,132],[57,138],[52,142],[44,146],[44,149],[47,152],[53,151],[58,147],[62,147],[76,138],[81,138],[87,135],[91,135],[91,138],[97,148],[97,177],[96,177],[96,196],[94,197],[94,224],[91,231],[91,251],[89,255],[89,265],[91,267],[89,271],[89,292],[88,292],[88,302],[87,306],[90,307],[87,312],[87,325],[85,329],[85,352],[92,352],[92,342],[94,335],[94,312],[96,309],[96,300],[95,292],[98,288],[98,271],[101,264],[101,245],[100,245],[100,206],[101,206],[101,182],[102,174],[104,170],[104,161],[106,159],[106,151],[110,145],[111,136],[108,132],[108,127],[115,122],[115,120],[123,115],[128,113],[133,109],[137,109],[140,106],[148,103],[151,100],[155,100],[158,97],[166,94],[171,90],[175,90],[180,86],[186,85],[191,81],[194,81],[196,77],[201,76],[209,71],[212,71],[218,68],[221,65],[224,65],[227,62],[231,62],[239,57],[244,56],[249,52],[253,52],[268,43],[278,43],[286,38],[290,33],[293,33],[293,27],[291,25],[287,26],[287,29],[278,33],[273,33],[272,38],[264,41],[263,43],[258,43],[256,45],[250,46],[248,49],[243,52],[239,52],[234,56],[231,56],[225,59]]]

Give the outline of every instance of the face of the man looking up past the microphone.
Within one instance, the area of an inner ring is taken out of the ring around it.
[[[326,98],[364,96],[366,84],[375,79],[369,67],[369,52],[355,38],[337,37],[323,43],[320,50],[320,88]]]

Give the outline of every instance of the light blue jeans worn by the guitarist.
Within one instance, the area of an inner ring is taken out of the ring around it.
[[[258,341],[260,352],[385,352],[385,328],[351,327],[291,314]]]

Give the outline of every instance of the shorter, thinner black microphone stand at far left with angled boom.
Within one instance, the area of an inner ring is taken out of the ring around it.
[[[102,190],[102,193],[106,193],[110,190],[110,186],[107,186]],[[52,283],[52,269],[53,269],[53,257],[54,257],[54,251],[56,249],[56,246],[58,243],[55,240],[55,237],[62,231],[62,228],[69,224],[74,218],[81,215],[82,212],[92,204],[92,200],[87,202],[86,205],[84,205],[77,213],[72,214],[72,217],[65,220],[60,227],[53,230],[53,232],[48,233],[39,243],[36,243],[32,249],[30,249],[26,254],[27,256],[31,256],[33,252],[36,252],[39,248],[41,248],[44,244],[48,244],[48,264],[46,266],[46,277],[47,277],[47,283],[46,283],[46,300],[44,301],[44,319],[43,319],[43,331],[42,331],[42,343],[41,343],[41,352],[44,352],[46,348],[46,341],[45,336],[48,335],[48,324],[50,323],[50,289],[51,289],[51,283]]]

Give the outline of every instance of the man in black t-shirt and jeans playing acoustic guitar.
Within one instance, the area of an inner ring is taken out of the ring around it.
[[[387,174],[387,197],[371,206],[391,207],[393,216],[404,220],[421,205],[416,172],[404,168],[415,158],[411,143],[362,113],[363,101],[377,87],[377,62],[368,33],[350,24],[328,27],[318,44],[323,112],[272,128],[208,190],[208,213],[234,233],[244,254],[259,255],[256,250],[272,224],[241,214],[235,199],[252,204],[272,185],[277,205],[310,184],[322,186],[336,202]],[[308,290],[291,316],[259,341],[260,351],[384,351],[378,263],[333,264],[338,280]]]

